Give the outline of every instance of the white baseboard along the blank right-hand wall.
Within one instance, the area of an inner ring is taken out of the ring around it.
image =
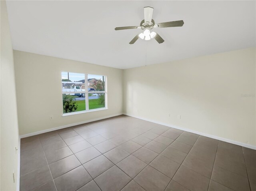
[[[130,115],[128,113],[123,113],[123,115],[127,115],[127,116],[130,116],[130,117],[135,117],[135,118],[142,119],[142,120],[145,120],[145,121],[150,121],[152,123],[157,123],[157,124],[160,124],[160,125],[165,125],[167,127],[172,127],[172,128],[180,129],[180,130],[183,130],[183,131],[188,131],[190,133],[195,133],[195,134],[202,135],[202,136],[205,136],[205,137],[209,137],[209,138],[212,138],[212,139],[217,139],[217,140],[224,141],[224,142],[227,142],[227,143],[232,143],[232,144],[235,144],[235,145],[240,145],[242,147],[247,147],[249,149],[256,150],[256,146],[254,146],[254,145],[249,145],[249,144],[246,144],[246,143],[241,143],[241,142],[238,142],[238,141],[226,139],[226,138],[223,138],[223,137],[218,137],[218,136],[215,136],[215,135],[209,135],[209,134],[206,134],[206,133],[202,133],[200,131],[194,131],[194,130],[191,130],[191,129],[186,129],[186,128],[183,128],[183,127],[179,127],[177,125],[170,125],[168,123],[162,123],[160,121],[154,121],[154,120],[151,120],[151,119],[146,119],[146,118],[138,117],[138,116],[135,116],[135,115]]]

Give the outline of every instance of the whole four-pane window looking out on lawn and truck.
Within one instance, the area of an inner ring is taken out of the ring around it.
[[[106,76],[62,72],[63,114],[106,109]]]

